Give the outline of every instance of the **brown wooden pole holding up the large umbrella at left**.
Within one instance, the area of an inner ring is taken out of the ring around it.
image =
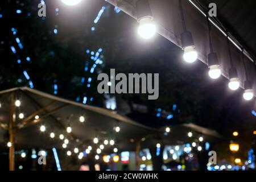
[[[15,158],[15,134],[14,134],[14,93],[11,93],[10,102],[10,121],[9,121],[9,142],[11,146],[9,147],[9,170],[14,171],[14,158]]]

